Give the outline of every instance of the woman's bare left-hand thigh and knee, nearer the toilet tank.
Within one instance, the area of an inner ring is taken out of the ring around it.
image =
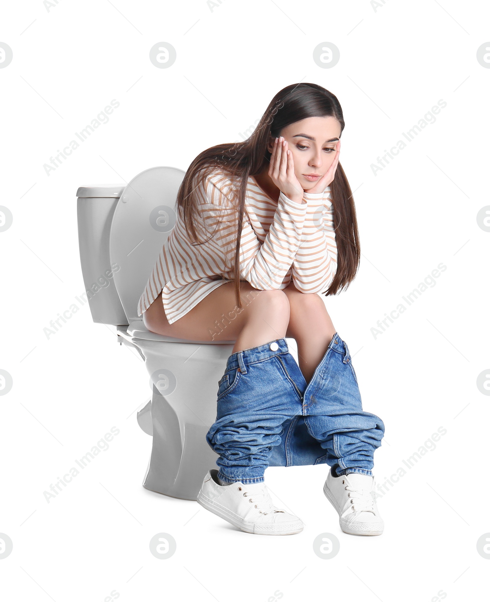
[[[238,308],[233,282],[222,284],[173,324],[167,321],[161,293],[143,313],[148,330],[167,337],[200,341],[236,341],[234,352],[285,337],[289,301],[281,290],[262,291],[240,283]]]

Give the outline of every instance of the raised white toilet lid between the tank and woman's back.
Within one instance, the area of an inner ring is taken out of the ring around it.
[[[138,301],[176,222],[175,201],[185,172],[151,167],[124,188],[114,211],[109,241],[114,284],[128,323],[141,321]]]

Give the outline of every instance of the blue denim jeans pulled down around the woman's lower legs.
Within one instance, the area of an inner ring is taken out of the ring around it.
[[[226,482],[261,483],[268,466],[328,464],[372,476],[383,421],[362,410],[347,344],[333,335],[306,385],[285,338],[232,353],[206,441]]]

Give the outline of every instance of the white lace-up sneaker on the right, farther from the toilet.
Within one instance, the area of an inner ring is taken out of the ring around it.
[[[333,477],[330,470],[323,493],[338,512],[340,528],[351,535],[381,535],[385,525],[374,500],[374,477],[349,473]]]

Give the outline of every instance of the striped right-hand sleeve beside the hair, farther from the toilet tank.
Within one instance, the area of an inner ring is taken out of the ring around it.
[[[337,268],[330,187],[303,195],[308,202],[300,245],[293,260],[293,282],[302,293],[324,293]]]

